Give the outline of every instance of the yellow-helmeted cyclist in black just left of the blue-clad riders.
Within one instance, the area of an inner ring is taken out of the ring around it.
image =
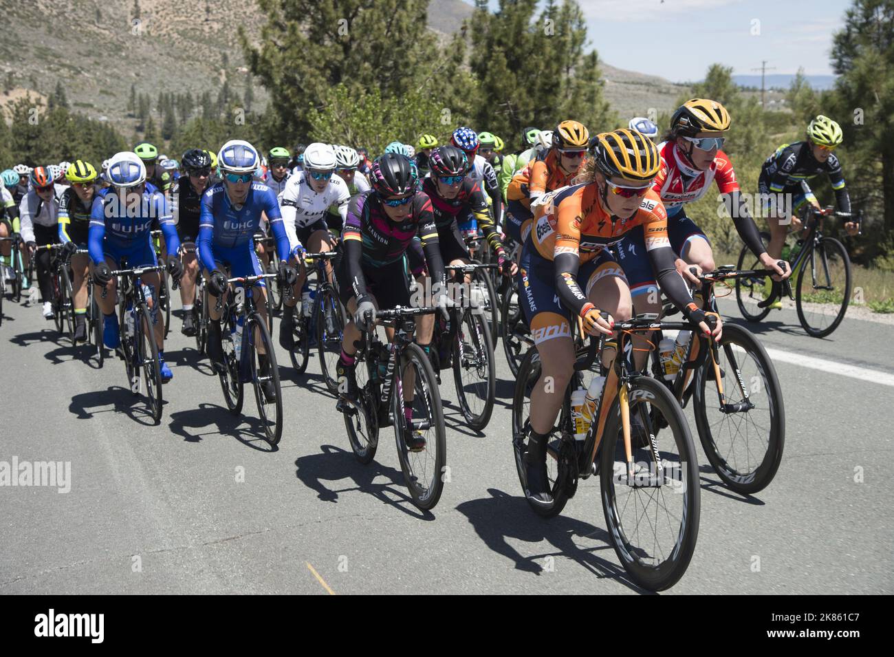
[[[87,275],[90,258],[86,253],[75,253],[75,251],[87,248],[93,197],[96,195],[94,185],[97,181],[97,170],[89,162],[75,160],[69,164],[65,177],[72,186],[63,191],[59,200],[58,232],[59,241],[72,256],[74,341],[83,342],[87,340]]]

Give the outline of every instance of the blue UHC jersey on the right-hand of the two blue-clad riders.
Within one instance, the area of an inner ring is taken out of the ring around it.
[[[205,190],[202,194],[202,210],[198,223],[198,256],[209,271],[215,270],[214,248],[229,250],[248,245],[252,236],[259,232],[261,213],[267,215],[276,239],[276,248],[285,256],[289,253],[289,238],[283,225],[283,215],[273,190],[263,182],[252,182],[245,203],[236,209],[223,187],[223,182]]]

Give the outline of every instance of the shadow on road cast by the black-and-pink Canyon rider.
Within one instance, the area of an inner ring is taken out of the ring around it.
[[[320,454],[295,459],[295,476],[308,488],[316,491],[318,499],[338,502],[339,493],[359,491],[368,493],[385,504],[391,504],[413,518],[434,520],[433,513],[420,511],[413,505],[413,499],[405,493],[406,484],[400,470],[384,466],[375,459],[368,465],[363,465],[358,463],[353,452],[335,445],[321,445],[320,451]],[[324,481],[336,482],[348,477],[356,485],[336,490],[324,484]],[[378,477],[384,477],[385,481],[375,482],[374,479]]]

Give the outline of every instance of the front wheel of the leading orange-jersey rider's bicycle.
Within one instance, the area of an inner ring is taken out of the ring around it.
[[[696,550],[701,508],[698,459],[677,400],[662,383],[639,376],[629,383],[631,433],[645,432],[653,445],[634,447],[628,468],[620,421],[620,397],[609,410],[600,445],[600,488],[611,543],[628,575],[649,591],[679,581]],[[661,416],[661,441],[653,427]],[[637,418],[637,419],[635,419]],[[655,458],[657,456],[657,459]]]

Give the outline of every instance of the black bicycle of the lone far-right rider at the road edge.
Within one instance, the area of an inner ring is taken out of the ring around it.
[[[835,331],[844,319],[850,303],[852,278],[848,251],[839,240],[822,234],[821,217],[833,214],[842,218],[850,217],[847,213],[833,213],[831,207],[824,210],[817,210],[814,206],[806,207],[804,230],[807,234],[805,238],[797,240],[797,255],[791,263],[791,278],[796,280],[794,300],[797,318],[807,334],[814,338],[824,338]],[[857,213],[857,223],[861,222],[862,215],[862,211]],[[770,235],[766,232],[762,232],[761,237],[764,244],[770,240]],[[764,292],[767,274],[748,248],[742,248],[736,268],[745,269],[746,260],[753,261],[750,268],[760,270],[761,274],[737,279],[736,301],[746,320],[760,322],[770,313],[771,304],[778,299],[779,288],[774,285],[772,293],[767,296]],[[811,304],[835,304],[838,310],[834,315],[828,315],[822,312],[822,307],[814,309]],[[830,317],[831,322],[827,323]]]

